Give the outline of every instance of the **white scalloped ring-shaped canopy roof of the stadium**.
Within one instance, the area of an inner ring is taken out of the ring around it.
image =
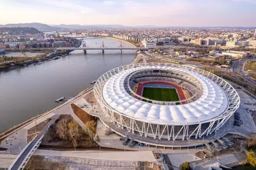
[[[149,68],[177,70],[192,75],[202,85],[201,97],[192,103],[174,106],[157,105],[133,98],[124,88],[125,78],[134,71]],[[159,66],[136,67],[117,73],[103,86],[104,100],[117,112],[132,118],[170,124],[197,124],[222,114],[227,108],[228,101],[224,91],[207,77],[182,68],[161,68]]]

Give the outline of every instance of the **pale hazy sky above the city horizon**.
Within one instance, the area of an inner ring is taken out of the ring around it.
[[[0,24],[256,26],[256,0],[0,0]]]

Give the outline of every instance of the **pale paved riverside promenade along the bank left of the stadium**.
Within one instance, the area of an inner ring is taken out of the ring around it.
[[[60,114],[70,114],[83,129],[86,129],[86,126],[84,125],[84,123],[73,113],[73,110],[71,109],[71,104],[80,100],[86,94],[92,91],[93,91],[93,87],[87,88],[81,93],[79,93],[76,97],[71,98],[64,104],[52,109],[49,112],[41,114],[40,116],[36,117],[32,121],[25,123],[21,127],[13,130],[12,132],[9,132],[8,134],[5,134],[4,138],[1,140],[0,147],[6,148],[6,150],[0,151],[0,154],[6,155],[6,157],[9,157],[9,159],[5,159],[5,156],[0,157],[0,162],[2,162],[2,164],[0,165],[0,168],[9,168],[12,162],[16,159],[17,155],[20,154],[22,150],[28,145],[28,130],[36,126],[37,124],[47,120],[48,118],[51,118],[53,119],[53,121],[55,121],[56,117],[59,117]],[[45,128],[48,128],[48,126],[45,126]],[[41,130],[41,132],[37,132],[37,133],[39,133],[39,136],[42,136],[42,133],[44,133],[43,131],[45,130],[46,129],[43,129]],[[27,146],[27,148],[28,147],[30,146]],[[29,152],[25,152],[22,158],[25,158],[26,157],[25,155],[28,153]]]

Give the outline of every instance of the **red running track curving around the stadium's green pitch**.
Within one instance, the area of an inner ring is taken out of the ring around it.
[[[178,95],[179,95],[179,97],[180,97],[180,100],[185,100],[185,99],[187,99],[186,96],[185,96],[185,94],[184,94],[184,92],[183,92],[183,90],[182,90],[182,87],[181,87],[181,86],[175,85],[175,84],[172,84],[172,83],[167,83],[167,82],[145,82],[145,83],[140,83],[140,84],[138,85],[138,88],[137,88],[136,93],[141,96],[141,95],[142,95],[142,91],[143,91],[144,85],[148,85],[148,84],[172,85],[173,87],[176,88],[177,93],[178,93]]]

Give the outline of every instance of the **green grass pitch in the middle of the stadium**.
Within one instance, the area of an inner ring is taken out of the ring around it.
[[[152,100],[168,101],[168,102],[179,100],[179,96],[175,88],[144,87],[142,96]]]

